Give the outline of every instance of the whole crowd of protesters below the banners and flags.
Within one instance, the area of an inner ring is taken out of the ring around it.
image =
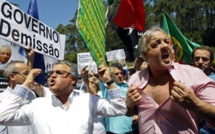
[[[180,63],[168,33],[153,26],[140,36],[131,65],[98,58],[95,68],[90,62],[78,70],[58,59],[46,72],[34,66],[32,46],[23,51],[26,62],[9,60],[12,49],[0,48],[0,134],[215,133],[214,52],[208,46],[192,50],[192,64]]]

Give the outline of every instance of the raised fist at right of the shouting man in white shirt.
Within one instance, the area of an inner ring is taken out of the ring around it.
[[[110,68],[108,68],[104,65],[99,66],[98,75],[99,75],[99,79],[104,83],[111,81],[111,79],[112,79],[110,76]]]

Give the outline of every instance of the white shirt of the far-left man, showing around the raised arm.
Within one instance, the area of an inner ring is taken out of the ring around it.
[[[8,86],[7,89],[0,93],[0,103],[3,99],[9,97],[12,93],[12,89]],[[36,98],[36,95],[33,91],[28,93],[27,98],[24,99],[24,102],[31,102]],[[28,126],[0,126],[0,134],[33,134],[32,128]]]

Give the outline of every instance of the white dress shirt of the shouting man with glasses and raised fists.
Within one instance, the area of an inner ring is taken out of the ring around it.
[[[37,98],[23,105],[29,90],[17,85],[7,100],[0,104],[0,124],[32,125],[35,134],[91,134],[96,116],[117,116],[126,113],[120,91],[109,90],[110,100],[73,91],[65,107],[54,95]]]

